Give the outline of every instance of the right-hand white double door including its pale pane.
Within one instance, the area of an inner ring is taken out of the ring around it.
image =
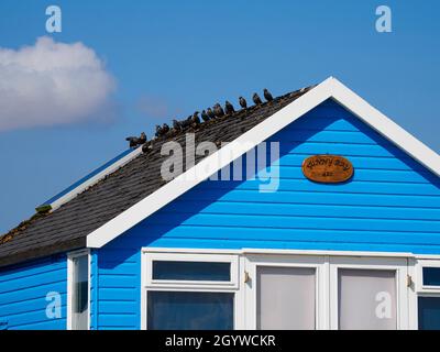
[[[408,329],[407,260],[330,257],[330,327]]]

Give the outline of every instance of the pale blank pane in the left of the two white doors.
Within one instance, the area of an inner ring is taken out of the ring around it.
[[[258,266],[256,285],[257,329],[315,329],[315,268]]]

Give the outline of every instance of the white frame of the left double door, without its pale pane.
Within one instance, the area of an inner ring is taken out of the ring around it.
[[[304,267],[314,268],[316,272],[315,280],[315,328],[322,330],[328,328],[327,319],[327,299],[328,292],[328,265],[326,256],[310,255],[265,255],[265,254],[248,254],[245,255],[245,307],[243,315],[245,316],[245,329],[256,329],[256,271],[258,266],[271,267]]]

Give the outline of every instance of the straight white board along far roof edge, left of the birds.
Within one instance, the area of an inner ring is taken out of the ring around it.
[[[55,201],[51,202],[51,211],[58,209],[61,206],[66,204],[67,201],[74,199],[76,196],[85,191],[87,188],[91,187],[92,185],[97,184],[99,180],[105,178],[107,175],[114,173],[118,168],[124,166],[127,163],[131,162],[138,155],[142,153],[142,147],[138,147],[133,150],[131,153],[127,154],[124,157],[120,158],[119,161],[114,162],[113,164],[109,165],[100,173],[96,174],[95,176],[90,177],[86,182],[81,183],[69,193],[65,194],[64,196],[57,198]]]

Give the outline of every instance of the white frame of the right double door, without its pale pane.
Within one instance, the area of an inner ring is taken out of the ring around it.
[[[382,270],[396,272],[396,329],[409,329],[409,311],[407,287],[408,261],[405,257],[353,257],[330,256],[330,329],[339,329],[339,275],[340,268],[346,270]]]

